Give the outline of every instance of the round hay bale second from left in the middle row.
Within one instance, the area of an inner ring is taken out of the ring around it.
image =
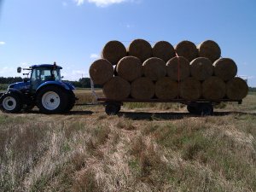
[[[143,75],[143,63],[135,56],[125,56],[117,65],[117,73],[127,81],[133,81]]]

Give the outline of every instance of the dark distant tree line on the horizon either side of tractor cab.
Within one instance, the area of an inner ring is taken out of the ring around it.
[[[22,78],[20,77],[15,77],[15,78],[4,78],[0,77],[0,84],[13,84],[16,82],[23,81]],[[68,80],[63,80],[64,82],[68,82],[73,84],[75,87],[78,88],[90,88],[90,78],[81,78],[78,81],[68,81]],[[102,88],[99,85],[94,85],[95,88]]]

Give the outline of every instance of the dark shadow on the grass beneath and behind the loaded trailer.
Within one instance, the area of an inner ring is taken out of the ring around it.
[[[230,114],[245,115],[250,114],[256,116],[256,113],[244,112],[214,112],[213,116],[227,116]],[[167,120],[167,119],[184,119],[189,117],[207,117],[206,115],[196,115],[191,113],[167,112],[167,113],[149,113],[149,112],[119,112],[119,117],[125,117],[132,120]]]

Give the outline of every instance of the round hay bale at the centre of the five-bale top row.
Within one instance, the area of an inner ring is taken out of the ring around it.
[[[163,61],[169,61],[175,56],[175,50],[169,42],[159,41],[154,44],[153,56],[162,59]]]

